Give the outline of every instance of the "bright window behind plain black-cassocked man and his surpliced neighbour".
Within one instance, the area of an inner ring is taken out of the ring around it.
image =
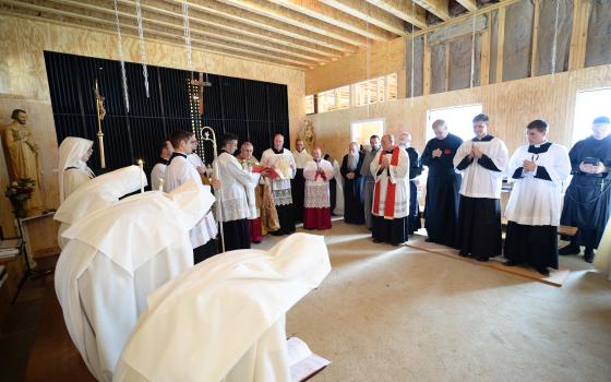
[[[427,142],[435,136],[433,122],[443,119],[450,132],[464,141],[474,138],[474,117],[481,114],[481,105],[463,105],[427,111]]]

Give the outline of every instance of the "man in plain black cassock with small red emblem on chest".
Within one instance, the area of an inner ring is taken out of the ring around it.
[[[447,131],[443,119],[433,122],[435,138],[427,142],[420,162],[429,168],[424,228],[427,241],[454,247],[458,222],[460,174],[454,169],[454,156],[463,140]]]

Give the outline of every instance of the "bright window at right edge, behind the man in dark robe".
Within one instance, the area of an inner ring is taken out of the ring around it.
[[[591,122],[596,117],[609,115],[611,88],[591,88],[577,92],[573,144],[591,135]]]

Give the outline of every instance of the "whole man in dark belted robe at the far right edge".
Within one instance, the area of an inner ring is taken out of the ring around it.
[[[559,254],[578,254],[594,261],[602,232],[611,216],[611,120],[598,117],[591,136],[577,142],[568,152],[573,179],[564,194],[560,224],[577,227],[577,235]]]

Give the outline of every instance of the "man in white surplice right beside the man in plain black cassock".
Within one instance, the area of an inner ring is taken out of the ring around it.
[[[456,229],[462,256],[488,261],[502,253],[501,183],[510,155],[505,143],[488,134],[488,116],[474,118],[476,136],[463,142],[454,166],[464,172]]]

